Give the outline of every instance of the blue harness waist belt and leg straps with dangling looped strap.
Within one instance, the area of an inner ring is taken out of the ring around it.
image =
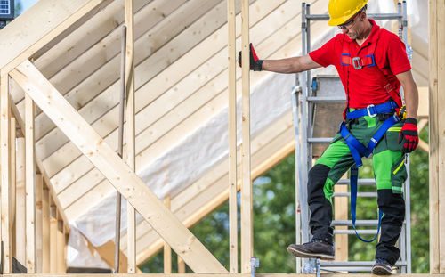
[[[397,105],[395,102],[386,102],[377,106],[372,105],[373,109],[372,112],[374,116],[376,116],[377,113],[383,113],[383,112],[391,112],[395,108],[392,108],[392,105]],[[363,116],[369,115],[369,109],[370,106],[364,109],[360,110],[354,110],[350,113],[347,113],[347,118],[360,118]],[[396,106],[397,107],[397,106]],[[351,116],[351,117],[350,117]],[[373,240],[364,240],[360,237],[359,233],[357,232],[357,229],[355,228],[355,221],[356,221],[356,208],[357,208],[357,184],[359,179],[359,167],[363,165],[361,162],[361,157],[368,157],[374,148],[376,147],[377,143],[384,137],[384,134],[386,131],[391,128],[395,123],[399,122],[401,119],[397,117],[396,114],[394,114],[391,118],[388,118],[384,120],[384,124],[378,128],[376,134],[372,136],[372,138],[369,140],[368,147],[365,147],[362,143],[359,142],[348,130],[346,125],[342,123],[340,126],[340,134],[344,137],[344,140],[346,141],[346,144],[349,147],[349,150],[351,151],[352,158],[355,161],[355,165],[351,167],[351,215],[352,215],[352,226],[354,227],[355,234],[357,237],[364,241],[364,242],[372,242],[376,240],[378,237],[378,234],[380,232],[380,224],[383,216],[383,212],[379,209],[378,210],[378,229],[376,233],[376,237]]]

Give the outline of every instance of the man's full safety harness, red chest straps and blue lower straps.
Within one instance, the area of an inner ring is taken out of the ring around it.
[[[351,214],[352,214],[352,226],[355,230],[355,234],[357,237],[364,242],[372,242],[376,240],[378,234],[380,232],[380,224],[382,221],[383,212],[378,210],[378,227],[376,237],[373,240],[364,240],[360,237],[357,229],[355,227],[356,221],[356,207],[357,207],[357,182],[359,178],[359,167],[363,164],[361,162],[362,157],[369,157],[377,143],[384,137],[386,131],[393,126],[395,123],[401,121],[401,119],[394,112],[396,109],[400,109],[402,107],[401,96],[400,94],[393,88],[391,83],[388,81],[387,77],[384,75],[384,72],[376,66],[376,59],[374,57],[374,53],[376,51],[376,42],[380,37],[380,33],[382,29],[378,29],[376,33],[376,41],[368,46],[367,54],[364,57],[351,57],[351,46],[352,43],[345,42],[343,43],[343,52],[340,56],[341,64],[344,69],[345,80],[345,91],[347,95],[347,105],[344,110],[344,118],[345,120],[352,120],[355,118],[362,118],[368,116],[370,118],[376,117],[378,114],[382,113],[393,113],[392,117],[384,120],[384,124],[380,126],[377,130],[376,134],[370,139],[368,146],[363,145],[359,142],[349,131],[345,122],[340,125],[340,134],[344,137],[346,144],[351,151],[352,158],[354,159],[355,165],[351,167]],[[349,73],[351,70],[360,70],[365,67],[373,68],[375,74],[380,74],[380,78],[382,80],[386,80],[387,84],[384,86],[384,89],[388,94],[390,94],[393,101],[385,102],[379,105],[368,105],[367,108],[354,110],[352,112],[346,112],[349,110]]]

